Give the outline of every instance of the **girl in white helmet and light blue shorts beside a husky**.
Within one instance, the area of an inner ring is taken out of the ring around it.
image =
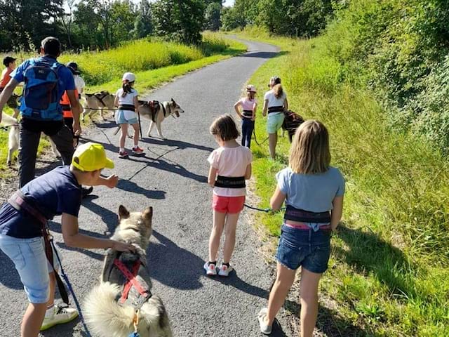
[[[121,128],[119,158],[128,158],[128,152],[125,150],[125,140],[128,136],[128,124],[134,128],[134,147],[133,154],[145,154],[138,146],[139,143],[139,123],[136,112],[139,110],[138,92],[133,88],[135,74],[126,72],[123,74],[123,85],[115,94],[114,105],[119,107],[116,111],[115,121]]]

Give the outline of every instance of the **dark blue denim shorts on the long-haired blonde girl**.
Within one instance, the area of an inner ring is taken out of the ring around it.
[[[276,259],[290,270],[300,266],[321,274],[328,269],[330,230],[300,230],[282,226]]]

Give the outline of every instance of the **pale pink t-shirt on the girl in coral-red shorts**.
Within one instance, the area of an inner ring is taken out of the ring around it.
[[[253,154],[248,147],[218,147],[208,157],[210,166],[217,169],[218,176],[243,177],[246,168],[253,161]],[[213,193],[222,197],[241,197],[246,195],[246,188],[213,187]]]

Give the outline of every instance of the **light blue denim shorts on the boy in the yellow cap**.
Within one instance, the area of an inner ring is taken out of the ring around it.
[[[46,303],[50,282],[48,273],[53,270],[45,254],[43,237],[19,239],[0,234],[0,250],[13,261],[29,302]]]

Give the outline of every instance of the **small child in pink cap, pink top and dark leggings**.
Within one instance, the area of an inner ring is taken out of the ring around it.
[[[241,98],[234,109],[241,118],[241,146],[251,146],[251,135],[254,131],[255,111],[257,110],[257,101],[255,100],[255,86],[248,84],[246,86],[246,97]],[[241,107],[241,111],[239,109]]]

